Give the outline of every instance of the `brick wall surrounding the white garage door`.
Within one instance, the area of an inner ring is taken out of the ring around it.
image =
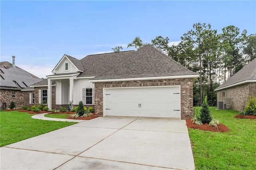
[[[103,88],[115,87],[149,87],[180,85],[181,119],[191,119],[193,116],[193,79],[161,79],[141,81],[97,82],[95,87],[95,113],[103,116]]]

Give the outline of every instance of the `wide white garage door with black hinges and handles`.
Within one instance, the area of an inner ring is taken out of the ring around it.
[[[104,116],[180,119],[180,86],[105,88]]]

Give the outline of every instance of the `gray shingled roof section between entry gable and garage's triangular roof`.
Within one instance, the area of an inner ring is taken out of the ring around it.
[[[92,77],[104,73],[109,68],[123,61],[126,57],[134,53],[134,51],[121,51],[114,53],[87,55],[81,59],[84,66],[84,72],[78,77]]]

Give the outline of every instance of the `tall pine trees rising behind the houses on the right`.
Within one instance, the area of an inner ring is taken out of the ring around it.
[[[151,43],[143,43],[140,37],[135,37],[127,47],[140,49],[150,44],[184,67],[199,73],[193,88],[194,105],[201,106],[204,96],[208,96],[209,105],[216,106],[214,89],[256,58],[256,34],[246,34],[246,30],[240,32],[232,25],[222,28],[218,34],[210,24],[196,23],[183,34],[178,45],[169,46],[168,37],[157,36]],[[114,52],[122,49],[122,46],[112,48]]]

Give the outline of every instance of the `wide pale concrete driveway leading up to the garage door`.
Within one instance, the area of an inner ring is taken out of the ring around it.
[[[185,120],[99,117],[0,148],[1,169],[194,169]]]

